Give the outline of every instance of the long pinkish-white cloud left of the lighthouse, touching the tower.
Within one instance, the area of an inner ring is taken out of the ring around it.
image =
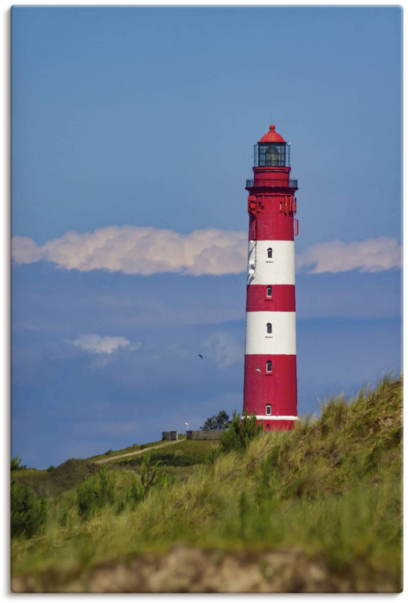
[[[107,226],[94,232],[70,231],[39,246],[24,236],[12,240],[19,264],[39,260],[59,268],[119,271],[124,274],[238,274],[246,268],[244,232],[205,229],[180,235],[174,230],[138,226]]]

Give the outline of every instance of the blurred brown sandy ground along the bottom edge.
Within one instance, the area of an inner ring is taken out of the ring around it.
[[[136,555],[68,572],[49,568],[38,575],[13,578],[14,593],[392,593],[384,575],[354,572],[334,575],[323,561],[301,551],[205,551],[176,545],[165,555]]]

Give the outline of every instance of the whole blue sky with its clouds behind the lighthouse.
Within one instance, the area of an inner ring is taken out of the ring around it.
[[[13,454],[241,408],[272,116],[299,180],[299,412],[400,370],[400,46],[397,7],[12,9]]]

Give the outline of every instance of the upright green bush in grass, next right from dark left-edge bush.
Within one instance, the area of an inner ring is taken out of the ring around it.
[[[96,476],[77,486],[78,514],[82,519],[92,517],[98,509],[115,504],[115,478],[110,478],[106,467]]]

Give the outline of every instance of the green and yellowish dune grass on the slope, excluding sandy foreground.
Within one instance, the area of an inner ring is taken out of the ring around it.
[[[401,379],[385,376],[351,400],[327,400],[319,418],[303,418],[293,432],[261,434],[244,452],[221,453],[211,464],[203,463],[203,442],[174,444],[175,458],[193,456],[197,446],[201,463],[172,467],[173,484],[151,488],[120,513],[106,505],[84,521],[75,488],[63,491],[49,499],[41,533],[13,539],[13,574],[52,575],[54,568],[68,576],[174,543],[220,551],[293,547],[347,575],[357,590],[383,576],[398,591],[401,402]],[[116,500],[135,470],[113,464]]]

